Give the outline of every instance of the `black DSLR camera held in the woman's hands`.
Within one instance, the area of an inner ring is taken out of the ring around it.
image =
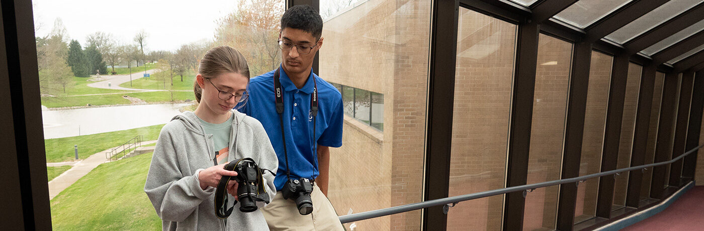
[[[268,169],[260,169],[259,166],[251,158],[242,158],[230,161],[225,165],[225,170],[237,172],[237,176],[222,176],[218,189],[215,190],[215,215],[220,219],[225,219],[232,213],[234,202],[230,209],[227,209],[227,183],[230,180],[237,180],[237,199],[242,204],[239,206],[239,211],[248,213],[256,211],[256,202],[269,203],[269,195],[266,193],[264,180],[262,177],[263,171]],[[269,171],[271,172],[271,171]],[[273,174],[273,173],[272,173]]]

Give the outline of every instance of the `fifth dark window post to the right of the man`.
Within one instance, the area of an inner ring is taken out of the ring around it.
[[[631,146],[633,148],[631,149],[630,166],[645,164],[648,133],[655,132],[648,131],[648,129],[650,126],[650,111],[653,107],[653,87],[655,86],[656,70],[657,65],[646,65],[643,66],[643,72],[641,73],[641,86],[638,94],[638,111],[636,112],[636,125],[634,127],[633,145]],[[642,171],[629,172],[626,206],[634,208],[639,207],[642,183]]]

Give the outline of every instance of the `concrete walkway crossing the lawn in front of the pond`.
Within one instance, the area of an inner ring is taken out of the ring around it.
[[[142,145],[149,145],[151,143],[156,143],[156,140],[144,141],[142,142]],[[108,150],[92,154],[90,157],[83,159],[82,161],[70,161],[74,162],[73,164],[65,164],[69,162],[46,163],[46,166],[49,166],[50,164],[62,163],[64,165],[73,165],[71,169],[61,173],[61,175],[54,178],[54,180],[49,181],[49,199],[54,199],[59,192],[65,190],[68,186],[73,185],[73,183],[83,176],[86,176],[86,174],[95,169],[95,167],[110,161],[105,158],[105,152],[109,152],[110,150],[113,150],[113,148],[114,147],[111,147]]]

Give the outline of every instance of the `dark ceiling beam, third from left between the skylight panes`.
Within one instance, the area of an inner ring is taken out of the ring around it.
[[[658,43],[662,39],[667,39],[670,35],[681,31],[696,22],[704,19],[704,1],[696,6],[693,6],[687,11],[680,13],[674,18],[662,22],[657,27],[640,34],[638,37],[631,39],[626,44],[626,52],[638,53],[648,46]]]

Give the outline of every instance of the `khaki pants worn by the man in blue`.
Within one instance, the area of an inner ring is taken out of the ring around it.
[[[313,187],[310,199],[313,200],[313,213],[301,215],[294,200],[284,199],[281,191],[276,192],[274,199],[263,209],[269,229],[274,231],[344,230],[332,204],[318,187]]]

